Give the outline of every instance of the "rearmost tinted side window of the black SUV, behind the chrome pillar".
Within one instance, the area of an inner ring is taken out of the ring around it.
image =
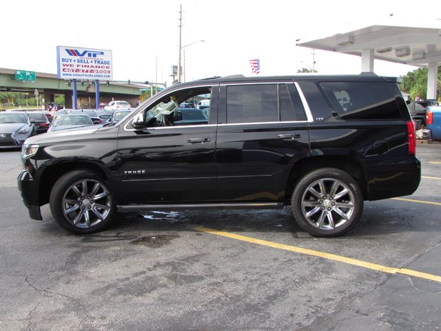
[[[342,119],[402,119],[386,83],[322,82],[320,87]]]

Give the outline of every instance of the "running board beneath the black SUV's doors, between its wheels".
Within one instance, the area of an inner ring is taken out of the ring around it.
[[[157,205],[116,205],[119,212],[146,210],[231,210],[231,209],[283,209],[283,203],[186,203]]]

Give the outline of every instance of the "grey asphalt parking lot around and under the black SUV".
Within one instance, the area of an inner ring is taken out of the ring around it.
[[[0,151],[1,330],[441,330],[441,145],[420,188],[367,201],[344,237],[291,211],[119,214],[75,236],[28,217]]]

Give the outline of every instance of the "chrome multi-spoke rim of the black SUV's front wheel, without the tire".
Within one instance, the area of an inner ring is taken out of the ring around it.
[[[110,213],[112,197],[109,190],[92,179],[83,179],[70,185],[62,201],[65,219],[78,228],[90,228],[103,221]]]

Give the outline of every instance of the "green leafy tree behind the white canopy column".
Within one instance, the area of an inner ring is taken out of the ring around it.
[[[421,99],[427,99],[427,68],[418,68],[413,71],[407,72],[405,76],[402,76],[401,90],[410,94],[411,99],[420,97]],[[441,68],[438,67],[438,83],[437,91],[440,90],[441,81]],[[439,97],[439,96],[438,96]]]

